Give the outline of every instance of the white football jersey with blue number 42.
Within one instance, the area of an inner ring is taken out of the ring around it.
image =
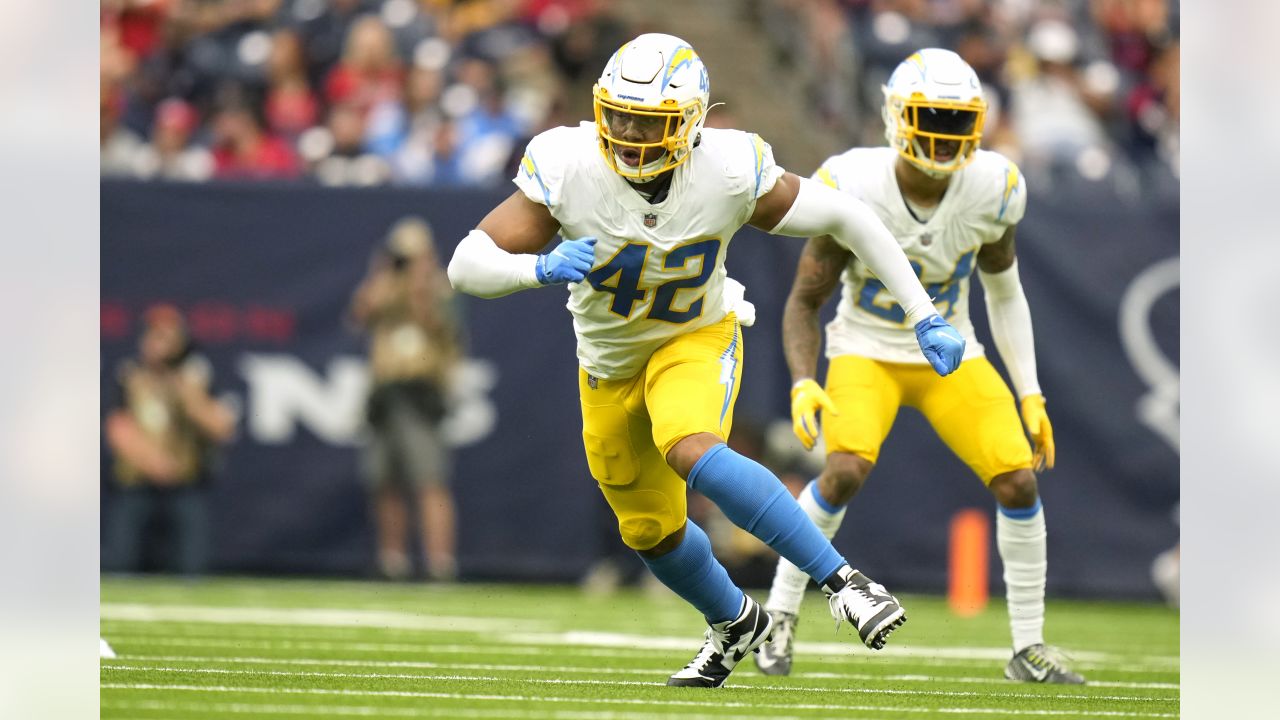
[[[594,123],[543,132],[515,182],[550,209],[562,237],[596,238],[594,269],[570,283],[568,309],[582,369],[620,379],[643,370],[662,343],[744,302],[724,270],[728,242],[783,170],[759,136],[704,128],[672,170],[667,197],[650,205],[605,164],[599,145]]]

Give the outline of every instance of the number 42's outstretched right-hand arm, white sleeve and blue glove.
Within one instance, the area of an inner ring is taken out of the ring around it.
[[[783,173],[756,200],[748,222],[773,234],[835,238],[867,263],[902,306],[933,369],[947,375],[960,366],[964,338],[934,310],[902,249],[867,204],[818,181]]]

